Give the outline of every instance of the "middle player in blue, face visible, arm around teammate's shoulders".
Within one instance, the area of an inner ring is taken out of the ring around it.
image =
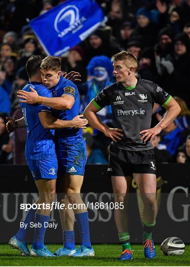
[[[53,98],[41,95],[32,89],[32,92],[18,91],[30,104],[42,104],[54,109],[54,116],[62,120],[70,120],[79,114],[80,95],[75,84],[62,77],[61,61],[58,57],[47,56],[41,63],[41,79],[44,86],[51,90]],[[84,177],[84,168],[87,160],[86,143],[81,129],[67,128],[55,131],[56,154],[58,162],[64,173],[64,192],[70,204],[84,204],[80,195]],[[84,206],[78,205],[75,210],[70,210],[65,216],[61,210],[64,247],[55,252],[57,256],[94,256],[90,242],[88,212]],[[81,247],[75,249],[74,220],[76,219],[80,236]]]

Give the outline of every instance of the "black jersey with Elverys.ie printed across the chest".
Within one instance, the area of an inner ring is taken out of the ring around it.
[[[150,129],[154,103],[163,107],[170,101],[171,95],[151,81],[138,78],[135,88],[125,88],[114,83],[103,89],[93,103],[99,109],[110,105],[115,127],[123,130],[122,140],[116,146],[126,150],[140,151],[152,149],[152,143],[140,140],[141,131]]]

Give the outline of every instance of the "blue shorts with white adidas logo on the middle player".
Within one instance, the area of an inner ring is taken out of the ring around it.
[[[56,144],[56,154],[61,173],[84,176],[87,163],[87,149],[84,139],[77,144]]]

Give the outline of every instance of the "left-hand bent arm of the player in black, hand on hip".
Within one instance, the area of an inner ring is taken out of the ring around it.
[[[121,140],[121,136],[123,136],[123,134],[121,134],[120,132],[122,130],[118,128],[109,128],[107,125],[102,123],[102,121],[96,114],[96,112],[98,112],[100,109],[101,107],[96,104],[94,99],[86,107],[84,111],[84,116],[89,121],[90,126],[104,133],[106,136],[110,137],[115,142],[117,142],[116,139]]]

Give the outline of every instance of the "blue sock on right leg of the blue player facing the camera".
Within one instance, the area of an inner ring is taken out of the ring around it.
[[[91,248],[88,212],[75,214],[81,236],[81,246]]]

